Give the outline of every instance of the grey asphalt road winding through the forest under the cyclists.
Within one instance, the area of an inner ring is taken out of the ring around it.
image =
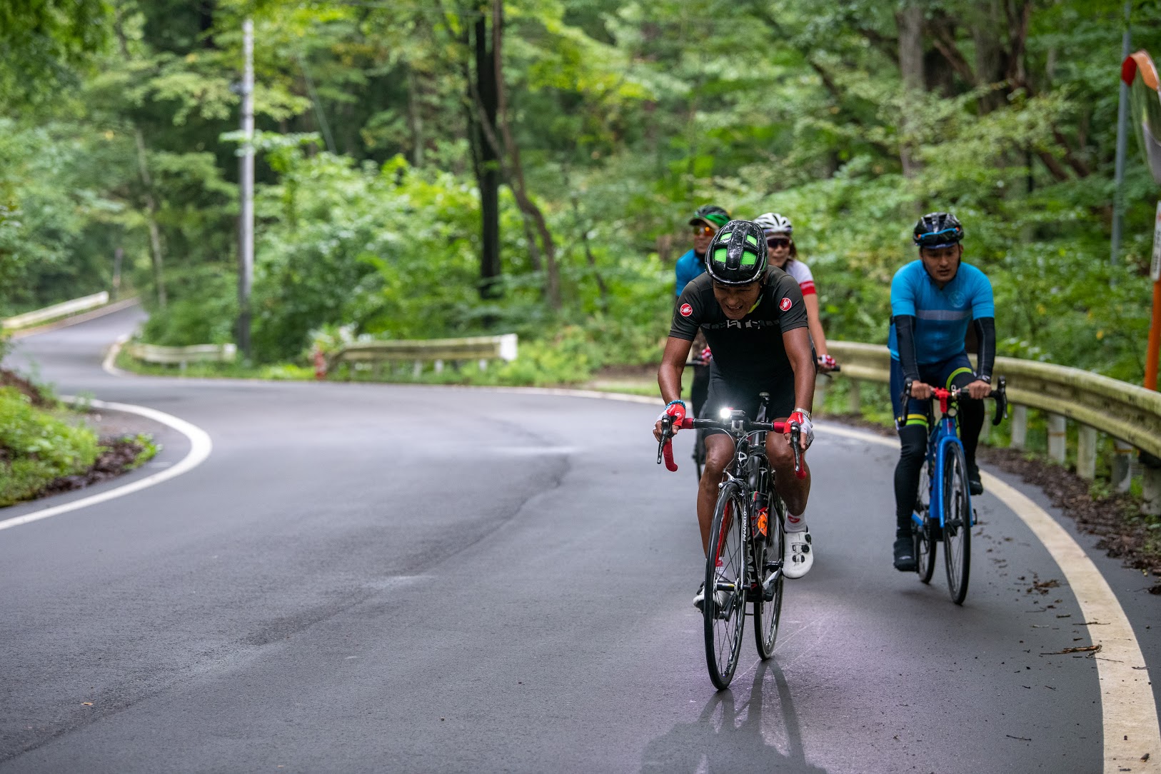
[[[776,657],[748,637],[715,693],[693,476],[654,464],[655,406],[104,374],[139,316],[15,359],[214,451],[0,531],[0,772],[1108,771],[1095,659],[1041,656],[1095,627],[990,493],[958,608],[942,562],[930,587],[890,567],[897,453],[823,427],[815,567],[787,583]],[[160,432],[156,468],[187,443]],[[1080,541],[1156,674],[1147,581]]]

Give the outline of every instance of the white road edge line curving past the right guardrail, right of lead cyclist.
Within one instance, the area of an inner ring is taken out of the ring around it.
[[[820,435],[841,435],[899,448],[899,442],[872,433],[815,425]],[[982,472],[982,471],[981,471]],[[1086,621],[1099,621],[1090,630],[1101,683],[1104,726],[1104,774],[1161,772],[1161,726],[1145,656],[1117,595],[1093,559],[1073,536],[1036,502],[990,473],[983,472],[988,491],[1021,518],[1065,573]],[[1148,755],[1146,760],[1141,760]]]

